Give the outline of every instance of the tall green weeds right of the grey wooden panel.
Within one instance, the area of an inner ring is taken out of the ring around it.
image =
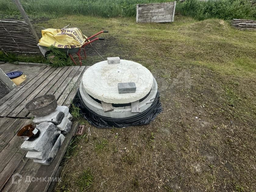
[[[186,0],[176,6],[176,12],[197,20],[211,18],[256,20],[256,6],[249,0]]]

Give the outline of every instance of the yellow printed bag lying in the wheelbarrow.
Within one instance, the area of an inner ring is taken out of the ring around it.
[[[87,37],[78,28],[66,29],[44,29],[42,38],[39,40],[40,46],[57,48],[77,48],[81,47]]]

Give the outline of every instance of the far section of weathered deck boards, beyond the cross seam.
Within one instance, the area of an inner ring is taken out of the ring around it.
[[[44,67],[21,88],[11,91],[0,99],[0,103],[2,103],[0,117],[32,117],[33,115],[24,108],[26,103],[44,94],[54,94],[59,105],[62,105],[67,98],[70,100],[71,97],[75,96],[78,87],[75,87],[73,91],[74,85],[80,81],[86,66]],[[72,94],[70,95],[70,93]],[[67,105],[70,105],[70,102],[67,102]]]

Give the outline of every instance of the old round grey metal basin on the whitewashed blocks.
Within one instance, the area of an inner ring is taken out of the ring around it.
[[[29,101],[25,108],[35,116],[45,116],[57,108],[57,101],[54,95],[43,95]]]

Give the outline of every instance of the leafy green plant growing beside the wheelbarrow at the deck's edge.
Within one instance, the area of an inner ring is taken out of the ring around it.
[[[60,51],[58,48],[55,48],[53,45],[48,47],[50,53],[46,56],[48,64],[53,67],[64,67],[71,66],[72,61],[69,56]]]

